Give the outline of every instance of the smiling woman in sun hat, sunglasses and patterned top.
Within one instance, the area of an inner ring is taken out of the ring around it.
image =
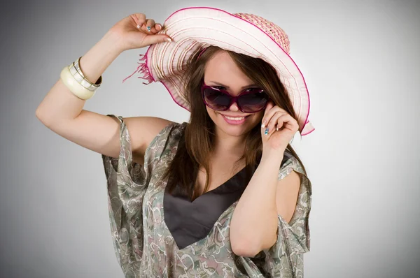
[[[137,70],[190,121],[82,110],[113,59],[146,45]],[[286,52],[286,34],[262,17],[186,8],[164,27],[130,15],[63,68],[36,115],[102,154],[126,277],[302,277],[311,183],[288,142],[314,129]]]

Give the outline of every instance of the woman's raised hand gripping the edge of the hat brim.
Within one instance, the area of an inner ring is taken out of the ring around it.
[[[139,26],[139,28],[137,28]],[[147,27],[151,27],[148,31]],[[118,44],[122,51],[141,48],[155,43],[167,42],[166,34],[156,34],[162,30],[162,24],[146,18],[144,13],[133,13],[117,22],[109,31],[118,37]]]

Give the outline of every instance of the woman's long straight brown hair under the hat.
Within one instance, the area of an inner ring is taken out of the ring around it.
[[[220,47],[212,45],[202,53],[200,59],[197,60],[198,54],[200,54],[199,51],[195,55],[192,55],[191,59],[188,61],[183,80],[187,80],[184,87],[186,101],[190,106],[190,121],[186,125],[185,132],[181,136],[174,159],[171,161],[163,175],[163,179],[169,178],[167,184],[167,190],[169,192],[176,189],[178,192],[188,196],[191,201],[195,200],[200,194],[196,184],[200,166],[202,166],[207,173],[203,192],[206,192],[209,187],[209,156],[214,147],[215,124],[207,112],[200,90],[202,82],[204,81],[204,69],[207,61],[209,61],[216,52],[221,50]],[[297,119],[286,89],[279,80],[275,69],[270,64],[262,59],[249,57],[246,54],[239,54],[228,50],[223,51],[227,51],[230,54],[230,57],[232,57],[233,61],[235,61],[237,66],[241,68],[241,71],[243,71],[248,78],[259,85],[260,88],[265,89],[265,92],[267,92],[275,105],[283,108],[294,119]],[[246,180],[250,180],[253,169],[258,166],[262,155],[261,131],[258,124],[246,135],[245,146],[245,152],[235,163],[235,166],[238,166],[239,162],[245,159]],[[304,169],[302,161],[300,161],[290,144],[286,149],[295,156]],[[306,173],[305,169],[304,171]]]

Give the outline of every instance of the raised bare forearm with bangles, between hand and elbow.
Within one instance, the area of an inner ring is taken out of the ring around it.
[[[83,55],[79,63],[87,80],[92,83],[97,82],[112,61],[123,52],[118,45],[118,41],[118,37],[109,31]],[[76,58],[74,57],[75,60]],[[69,61],[69,64],[72,62]],[[59,71],[57,76],[59,77]],[[54,122],[58,123],[76,118],[84,105],[85,100],[71,93],[59,78],[36,109],[36,117],[44,124],[50,125]]]

